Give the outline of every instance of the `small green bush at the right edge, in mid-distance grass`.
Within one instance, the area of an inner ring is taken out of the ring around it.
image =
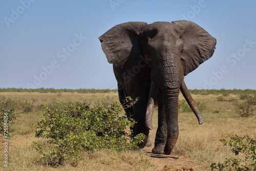
[[[236,113],[241,117],[248,117],[251,115],[254,115],[255,107],[253,106],[255,104],[255,96],[247,96],[246,100],[243,102],[234,102],[234,109]]]

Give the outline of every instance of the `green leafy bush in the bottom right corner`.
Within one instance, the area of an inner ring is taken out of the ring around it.
[[[230,141],[221,139],[224,145],[229,145],[231,151],[238,156],[242,153],[240,158],[232,157],[226,158],[224,163],[212,163],[211,169],[217,170],[255,170],[256,169],[256,140],[249,136],[234,136],[230,138]]]

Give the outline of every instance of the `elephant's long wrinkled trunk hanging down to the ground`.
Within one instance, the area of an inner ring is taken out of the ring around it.
[[[175,57],[173,57],[175,58]],[[163,113],[165,114],[167,125],[167,139],[164,147],[164,153],[169,155],[179,136],[178,126],[178,100],[181,83],[184,78],[181,63],[176,61],[165,63],[161,72],[162,78],[159,78],[159,89],[163,97]]]

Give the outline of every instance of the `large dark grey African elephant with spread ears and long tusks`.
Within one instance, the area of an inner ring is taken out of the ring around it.
[[[103,52],[118,82],[119,100],[139,97],[127,117],[137,123],[133,134],[152,130],[154,106],[158,103],[158,128],[152,153],[172,153],[179,135],[178,98],[181,90],[198,118],[203,117],[189,94],[184,76],[214,53],[216,39],[187,20],[172,23],[128,22],[116,25],[99,37]],[[147,143],[148,138],[144,143]]]

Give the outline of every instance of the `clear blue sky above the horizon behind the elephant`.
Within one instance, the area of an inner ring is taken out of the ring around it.
[[[188,89],[256,89],[256,1],[0,1],[0,88],[116,89],[98,37],[187,19],[217,39]]]

